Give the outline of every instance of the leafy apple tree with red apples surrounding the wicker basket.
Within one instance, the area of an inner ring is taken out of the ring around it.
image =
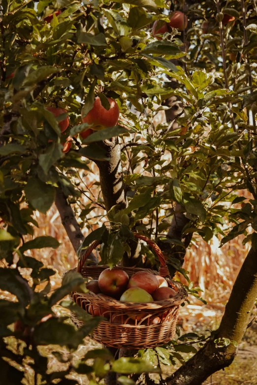
[[[232,362],[257,297],[256,18],[255,0],[2,0],[0,289],[9,295],[0,299],[0,384],[77,384],[76,373],[91,385],[133,384],[140,375],[151,384],[148,373],[183,362],[186,351],[192,358],[163,381],[198,385]],[[95,164],[99,194],[87,191],[85,205],[81,170],[87,185]],[[78,273],[52,292],[54,270],[28,255],[59,246],[33,237],[34,212],[54,202],[78,256],[104,235],[101,261],[110,266],[158,268],[131,241],[136,231],[158,242],[171,276],[187,278],[192,238],[218,237],[222,246],[244,234],[252,248],[218,330],[193,344],[182,335],[159,349],[121,350],[120,358],[99,349],[74,364],[101,318],[63,299],[84,290]],[[99,223],[95,207],[105,224],[84,239],[89,219]],[[85,326],[58,317],[60,301]],[[64,369],[50,372],[42,347]]]

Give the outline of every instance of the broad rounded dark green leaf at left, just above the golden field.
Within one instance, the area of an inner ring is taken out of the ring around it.
[[[54,203],[55,188],[36,177],[28,180],[24,191],[32,206],[44,214]]]

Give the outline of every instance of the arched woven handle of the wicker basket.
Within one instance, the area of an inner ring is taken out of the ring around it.
[[[168,267],[166,265],[166,262],[165,262],[165,259],[164,259],[164,256],[162,254],[162,251],[160,249],[160,247],[152,240],[152,239],[149,239],[148,237],[146,236],[143,236],[143,235],[140,235],[140,234],[137,234],[137,233],[134,233],[134,237],[135,238],[138,238],[138,239],[142,239],[144,240],[146,243],[148,243],[156,252],[158,258],[159,258],[159,261],[160,261],[160,267],[159,267],[159,274],[162,276],[162,277],[169,277],[170,278],[170,275],[169,275],[169,270],[168,270]],[[85,252],[83,253],[82,257],[80,258],[80,260],[78,261],[78,267],[77,267],[77,271],[79,273],[82,272],[82,268],[84,266],[84,263],[86,262],[86,259],[88,258],[88,256],[90,255],[90,253],[99,245],[101,244],[101,240],[95,240],[93,243],[91,243],[91,245],[85,250]]]

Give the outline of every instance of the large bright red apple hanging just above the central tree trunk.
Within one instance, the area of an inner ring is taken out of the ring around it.
[[[115,100],[109,97],[107,99],[110,103],[109,110],[105,110],[100,98],[97,96],[92,110],[85,117],[82,116],[83,123],[93,124],[93,130],[99,131],[106,127],[113,127],[118,122],[120,116],[119,106]]]

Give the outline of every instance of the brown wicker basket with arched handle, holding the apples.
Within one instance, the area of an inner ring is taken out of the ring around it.
[[[179,283],[169,279],[168,268],[158,245],[151,239],[134,234],[136,238],[147,242],[156,251],[161,266],[159,273],[151,269],[122,267],[130,277],[137,271],[149,271],[165,277],[168,285],[177,295],[173,298],[150,303],[121,302],[112,297],[89,293],[71,293],[72,299],[93,316],[101,315],[108,319],[102,321],[93,332],[93,339],[105,346],[127,349],[142,349],[161,346],[169,342],[175,335],[178,310],[180,304],[187,298],[186,290]],[[101,242],[94,241],[81,257],[77,271],[84,277],[98,279],[100,273],[108,266],[88,266],[84,263],[89,254]],[[71,319],[76,326],[82,326],[74,314]],[[154,323],[153,323],[153,320]]]

